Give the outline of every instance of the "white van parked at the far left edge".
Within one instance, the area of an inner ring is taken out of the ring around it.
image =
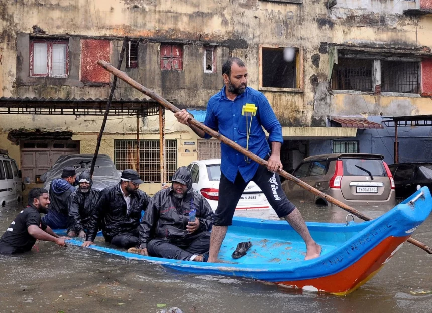
[[[20,202],[23,186],[17,163],[9,158],[8,151],[0,149],[0,205]]]

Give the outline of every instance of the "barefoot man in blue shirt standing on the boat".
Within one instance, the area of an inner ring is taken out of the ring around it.
[[[204,124],[267,160],[268,166],[259,165],[221,143],[219,202],[214,215],[208,262],[217,261],[234,210],[249,181],[261,188],[277,215],[284,217],[303,238],[306,243],[305,260],[318,257],[321,247],[310,236],[298,209],[286,198],[279,175],[275,173],[282,169],[280,148],[283,137],[273,109],[261,92],[247,87],[248,71],[242,60],[230,58],[225,61],[222,77],[225,86],[208,101]],[[180,123],[189,125],[190,115],[186,110],[175,113],[175,116]],[[211,138],[203,130],[193,125],[189,127],[199,137]],[[269,133],[271,150],[262,127]]]

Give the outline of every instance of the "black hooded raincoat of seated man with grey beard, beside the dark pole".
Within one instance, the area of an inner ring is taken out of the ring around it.
[[[91,179],[90,173],[83,171],[79,174],[78,181],[86,179],[90,182],[90,190],[83,193],[79,190],[79,187],[70,195],[68,202],[69,217],[71,221],[71,228],[75,230],[76,235],[80,231],[84,231],[87,228],[87,224],[90,221],[90,214],[96,206],[97,199],[99,198],[99,191],[91,188],[93,180]]]

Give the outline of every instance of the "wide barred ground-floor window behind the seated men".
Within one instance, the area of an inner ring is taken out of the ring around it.
[[[166,180],[177,170],[177,140],[165,141]],[[160,142],[140,140],[139,174],[144,183],[160,183]],[[137,164],[137,141],[114,140],[114,164],[117,170],[134,169]]]

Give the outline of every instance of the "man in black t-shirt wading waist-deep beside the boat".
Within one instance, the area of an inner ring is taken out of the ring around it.
[[[46,189],[33,188],[29,192],[29,205],[17,215],[0,238],[0,253],[30,251],[37,239],[65,246],[64,238],[55,234],[41,219],[41,213],[48,212],[49,203]]]

